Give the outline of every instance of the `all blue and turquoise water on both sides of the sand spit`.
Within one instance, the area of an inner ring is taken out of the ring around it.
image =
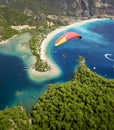
[[[55,47],[54,43],[63,33],[75,31],[82,39],[72,39]],[[99,75],[114,78],[114,20],[89,22],[64,30],[50,41],[47,55],[59,66],[62,73],[54,79],[36,82],[29,78],[27,67],[33,56],[28,48],[29,33],[15,37],[0,45],[0,109],[23,105],[30,111],[49,83],[72,79],[78,66],[77,56],[86,59],[86,65]]]

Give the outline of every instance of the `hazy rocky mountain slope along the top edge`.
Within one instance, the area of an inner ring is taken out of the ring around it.
[[[88,17],[110,17],[114,15],[114,0],[0,0],[1,4],[27,13]]]

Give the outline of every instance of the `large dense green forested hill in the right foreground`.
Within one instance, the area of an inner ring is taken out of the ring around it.
[[[33,107],[34,130],[113,130],[114,80],[81,64],[72,81],[49,85]]]

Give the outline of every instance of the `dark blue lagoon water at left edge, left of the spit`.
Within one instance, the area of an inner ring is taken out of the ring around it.
[[[0,108],[12,104],[15,92],[33,86],[23,70],[23,62],[14,56],[0,55]]]

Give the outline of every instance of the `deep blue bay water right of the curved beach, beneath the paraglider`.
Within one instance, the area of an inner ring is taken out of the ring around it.
[[[62,33],[69,31],[78,32],[82,35],[82,39],[72,39],[59,47],[52,46],[52,57],[63,70],[62,80],[72,78],[78,64],[78,55],[85,57],[86,64],[92,71],[107,78],[114,78],[114,21],[92,22]],[[52,42],[54,43],[55,39]],[[111,60],[105,58],[105,54],[110,54]]]

